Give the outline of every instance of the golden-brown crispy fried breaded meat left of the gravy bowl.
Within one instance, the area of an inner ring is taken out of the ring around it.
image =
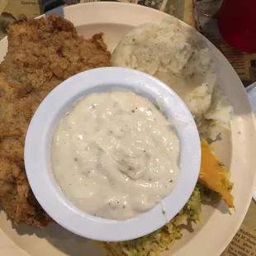
[[[111,66],[102,33],[85,40],[70,21],[50,15],[21,17],[8,29],[8,50],[0,64],[0,202],[14,223],[44,226],[51,219],[26,179],[26,130],[44,97],[70,76]]]

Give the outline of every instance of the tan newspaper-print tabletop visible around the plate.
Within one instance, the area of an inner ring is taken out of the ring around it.
[[[154,7],[162,12],[173,14],[187,22],[187,24],[199,29],[206,18],[207,21],[209,21],[209,19],[211,21],[212,19],[214,22],[214,17],[220,8],[221,1],[222,0],[212,0],[211,2],[209,2],[209,0],[202,0],[200,2],[197,2],[197,0],[145,0],[142,2],[145,6]],[[40,15],[38,2],[38,0],[0,0],[0,13],[2,13],[0,17],[0,39],[6,36],[8,22],[17,18],[20,14],[25,14],[26,17],[36,17]],[[92,2],[92,0],[65,0],[64,2],[66,5],[69,5],[78,2]],[[138,3],[138,0],[120,0],[120,2]],[[196,13],[197,16],[194,16],[194,13]],[[252,61],[256,63],[256,55],[244,55],[239,53],[229,45],[226,45],[220,38],[216,38],[216,36],[214,36],[215,31],[207,31],[207,28],[205,31],[204,28],[202,28],[202,30],[201,32],[222,51],[226,58],[230,59],[230,63],[244,82],[244,86],[256,81],[256,67],[252,64]],[[254,201],[252,201],[249,206],[249,211],[244,218],[240,230],[222,255],[256,256],[256,203]]]

